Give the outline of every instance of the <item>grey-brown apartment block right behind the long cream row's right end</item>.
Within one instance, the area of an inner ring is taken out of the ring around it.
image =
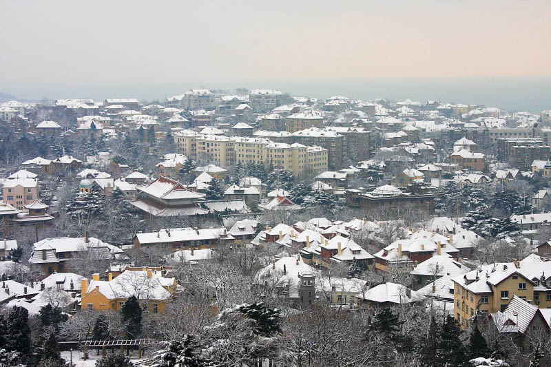
[[[302,145],[324,147],[329,151],[329,169],[336,171],[343,167],[344,136],[334,131],[326,131],[311,127],[293,133],[295,142]]]

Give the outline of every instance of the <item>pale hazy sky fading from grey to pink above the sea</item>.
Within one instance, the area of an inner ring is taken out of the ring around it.
[[[550,19],[550,0],[0,0],[0,92],[551,76]]]

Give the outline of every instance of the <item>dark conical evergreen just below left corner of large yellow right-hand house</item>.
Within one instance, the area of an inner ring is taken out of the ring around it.
[[[468,361],[461,341],[461,328],[453,316],[448,315],[440,328],[438,349],[439,366],[461,366]]]

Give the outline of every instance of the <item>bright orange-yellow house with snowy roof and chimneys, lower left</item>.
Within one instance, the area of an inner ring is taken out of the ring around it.
[[[118,311],[134,295],[150,312],[162,313],[177,282],[161,273],[154,269],[125,270],[116,277],[109,273],[108,280],[99,280],[99,274],[94,274],[92,281],[81,281],[82,308]]]

